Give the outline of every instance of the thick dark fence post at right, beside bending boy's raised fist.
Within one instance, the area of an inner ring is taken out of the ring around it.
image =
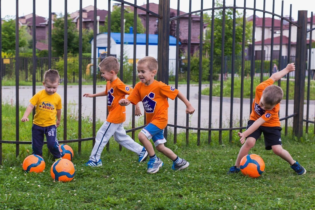
[[[293,132],[297,137],[303,135],[303,110],[306,68],[306,32],[307,11],[299,10],[296,36],[296,59],[295,59],[295,84],[294,84],[294,113]]]

